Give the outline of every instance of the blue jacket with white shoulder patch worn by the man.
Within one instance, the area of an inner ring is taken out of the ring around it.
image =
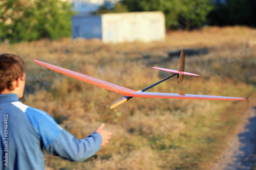
[[[77,140],[46,112],[19,102],[17,94],[0,94],[0,141],[0,169],[42,170],[43,149],[63,159],[82,161],[100,149],[102,138],[94,133]]]

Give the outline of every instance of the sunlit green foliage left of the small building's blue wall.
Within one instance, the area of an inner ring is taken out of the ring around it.
[[[31,41],[41,38],[61,38],[71,35],[71,16],[68,2],[60,0],[0,2],[0,40]]]

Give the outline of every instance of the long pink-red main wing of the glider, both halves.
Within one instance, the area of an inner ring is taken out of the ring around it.
[[[66,68],[58,67],[52,64],[34,60],[37,64],[60,72],[63,75],[70,76],[72,78],[93,84],[95,86],[102,87],[104,89],[117,92],[126,96],[142,97],[142,98],[167,98],[167,99],[198,99],[198,100],[247,100],[247,98],[232,98],[225,96],[213,96],[213,95],[196,95],[196,94],[175,94],[175,93],[158,93],[158,92],[140,92],[129,88],[118,86],[103,80],[99,80],[87,75],[80,74],[75,71],[71,71]]]

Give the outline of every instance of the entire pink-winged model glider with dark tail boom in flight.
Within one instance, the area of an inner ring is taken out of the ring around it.
[[[99,80],[87,75],[83,75],[80,74],[78,72],[66,69],[66,68],[62,68],[62,67],[58,67],[56,65],[52,65],[52,64],[48,64],[45,62],[41,62],[38,60],[34,60],[34,62],[36,62],[37,64],[40,64],[44,67],[47,67],[49,69],[52,69],[54,71],[60,72],[63,75],[67,75],[70,76],[72,78],[93,84],[95,86],[99,86],[102,88],[105,88],[107,90],[110,91],[114,91],[116,93],[125,95],[122,98],[116,100],[115,102],[113,102],[110,105],[110,109],[113,109],[121,104],[123,104],[124,102],[130,100],[133,97],[141,97],[141,98],[168,98],[168,99],[198,99],[198,100],[247,100],[248,98],[234,98],[234,97],[226,97],[226,96],[214,96],[214,95],[197,95],[197,94],[176,94],[176,93],[159,93],[159,92],[145,92],[146,90],[164,82],[165,80],[168,80],[169,78],[172,78],[174,76],[177,75],[178,77],[178,83],[182,82],[183,80],[183,76],[184,75],[190,75],[190,76],[199,76],[196,74],[192,74],[189,72],[184,72],[185,69],[185,51],[183,50],[181,52],[181,56],[180,56],[180,61],[179,61],[179,66],[178,66],[178,70],[173,70],[173,69],[166,69],[166,68],[159,68],[159,67],[153,67],[159,70],[163,70],[163,71],[168,71],[168,72],[172,72],[172,75],[166,77],[165,79],[152,84],[151,86],[148,86],[142,90],[132,90],[129,88],[125,88],[116,84],[112,84],[109,82],[105,82],[103,80]]]

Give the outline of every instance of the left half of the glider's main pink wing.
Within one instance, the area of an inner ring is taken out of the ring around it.
[[[49,69],[52,69],[54,71],[60,72],[63,75],[73,77],[75,79],[93,84],[95,86],[99,86],[99,87],[108,89],[110,91],[114,91],[114,92],[119,93],[119,94],[129,95],[129,94],[135,92],[134,90],[131,90],[129,88],[125,88],[125,87],[122,87],[122,86],[118,86],[116,84],[105,82],[103,80],[99,80],[99,79],[96,79],[96,78],[93,78],[93,77],[90,77],[90,76],[87,76],[87,75],[83,75],[83,74],[80,74],[78,72],[66,69],[66,68],[58,67],[56,65],[48,64],[48,63],[38,61],[38,60],[34,60],[34,62],[36,62],[37,64],[40,64],[44,67],[47,67]]]

